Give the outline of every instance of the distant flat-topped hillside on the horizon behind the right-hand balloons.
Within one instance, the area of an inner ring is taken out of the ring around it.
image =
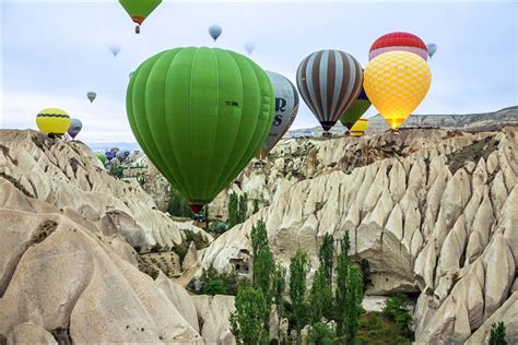
[[[387,122],[380,115],[376,115],[368,119],[368,132],[385,132],[389,128]],[[504,108],[494,112],[483,114],[452,114],[452,115],[412,115],[402,126],[402,128],[410,127],[435,127],[445,129],[463,129],[463,130],[495,130],[505,124],[518,124],[518,106]],[[297,132],[303,132],[308,129],[297,129],[290,131],[289,135],[293,135]],[[319,135],[322,132],[320,127],[314,127],[309,129],[315,135]],[[332,129],[331,132],[335,134],[342,134],[345,128],[339,122]]]

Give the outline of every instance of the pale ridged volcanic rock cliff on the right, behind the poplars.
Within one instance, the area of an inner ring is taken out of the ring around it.
[[[229,262],[250,251],[249,230],[260,218],[284,265],[302,248],[316,269],[321,237],[349,230],[351,254],[369,262],[367,294],[421,293],[417,342],[464,342],[516,285],[515,133],[428,130],[402,131],[396,140],[281,142],[266,168],[276,172],[260,189],[286,178],[291,186],[215,239],[202,266],[231,272]]]

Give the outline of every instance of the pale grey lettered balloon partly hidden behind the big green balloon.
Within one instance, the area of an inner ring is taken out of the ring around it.
[[[298,111],[298,93],[292,82],[275,72],[267,71],[275,94],[275,112],[270,132],[257,154],[262,159],[275,146],[292,126]]]

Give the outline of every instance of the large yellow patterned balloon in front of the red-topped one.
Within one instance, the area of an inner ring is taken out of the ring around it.
[[[426,96],[431,81],[428,64],[422,58],[398,50],[384,52],[368,62],[364,88],[395,131]]]

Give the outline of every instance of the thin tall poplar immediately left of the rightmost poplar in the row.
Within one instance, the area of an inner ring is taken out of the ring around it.
[[[349,231],[345,231],[340,241],[341,251],[338,255],[337,262],[337,290],[334,297],[334,321],[337,321],[337,336],[339,338],[345,335],[345,320],[346,320],[346,295],[349,281]]]

